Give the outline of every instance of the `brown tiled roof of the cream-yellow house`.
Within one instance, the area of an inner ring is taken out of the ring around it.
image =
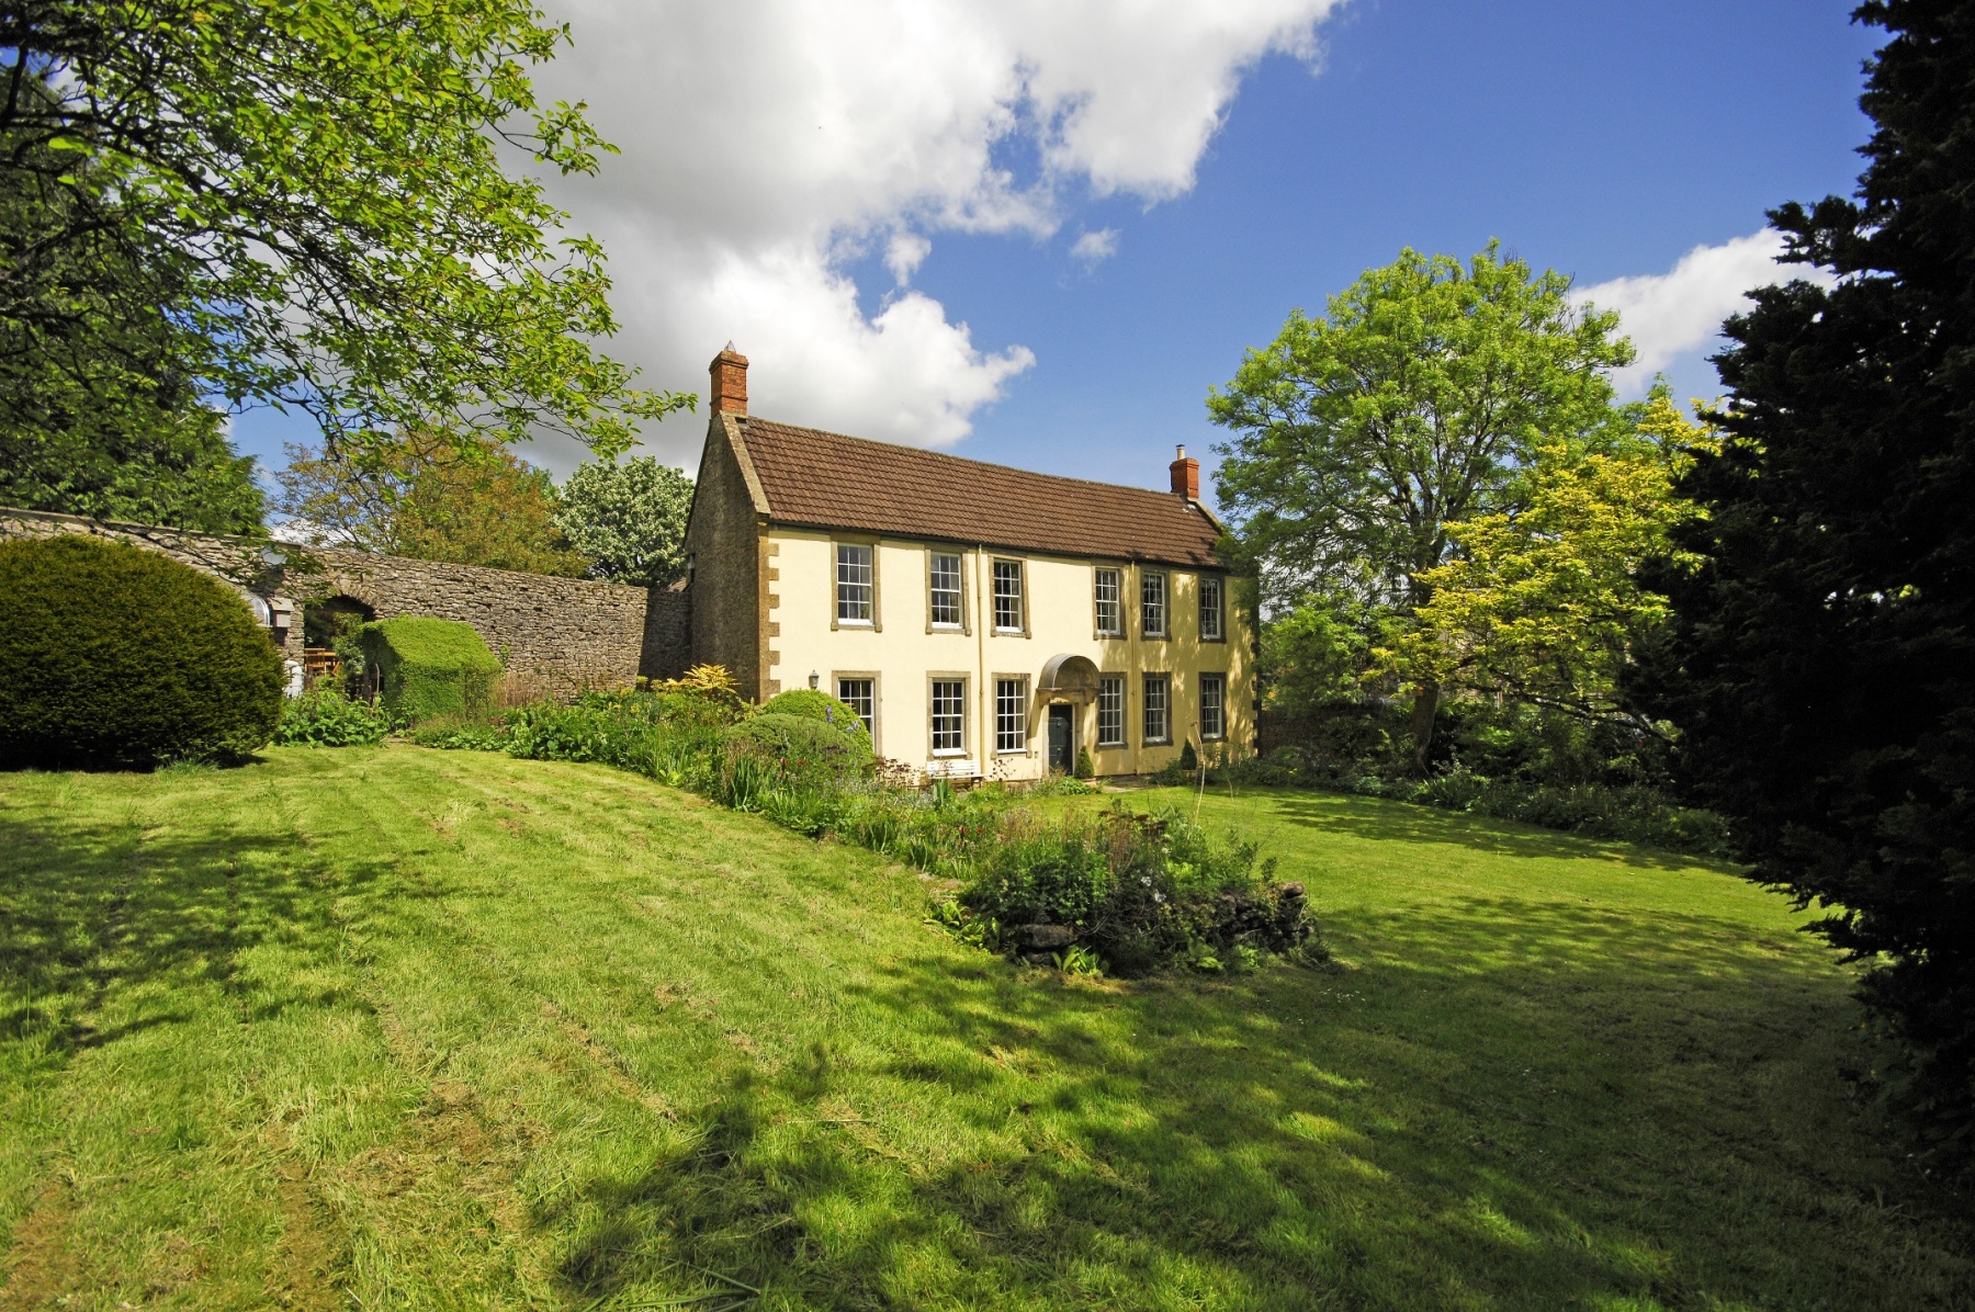
[[[1221,530],[1173,492],[1033,474],[841,433],[741,419],[782,524],[1213,567]]]

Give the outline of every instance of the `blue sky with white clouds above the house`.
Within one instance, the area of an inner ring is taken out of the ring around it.
[[[837,16],[873,10],[883,30],[897,22],[885,8],[859,0]],[[1829,0],[1311,0],[1313,22],[1278,14],[1165,43],[1142,26],[1005,24],[1009,67],[1041,69],[1009,95],[1007,73],[995,83],[976,57],[980,36],[938,26],[910,38],[922,45],[897,71],[843,91],[828,67],[833,36],[784,34],[788,45],[768,49],[778,16],[762,12],[760,28],[735,22],[762,41],[758,61],[786,55],[798,75],[762,77],[721,113],[703,87],[654,105],[644,79],[664,69],[644,61],[616,81],[612,59],[650,40],[687,69],[705,53],[695,41],[713,49],[733,30],[610,0],[571,18],[577,57],[545,83],[581,79],[624,156],[620,176],[559,200],[606,241],[626,318],[614,350],[648,381],[703,389],[703,362],[735,338],[752,358],[756,413],[1147,486],[1163,484],[1175,443],[1213,462],[1221,435],[1203,397],[1244,348],[1404,245],[1465,255],[1497,237],[1592,287],[1669,275],[1697,247],[1756,233],[1770,205],[1849,192],[1868,132],[1858,65],[1878,36]],[[1207,53],[1191,59],[1189,45]],[[940,59],[970,61],[940,85],[914,81]],[[1224,89],[1203,67],[1217,59]],[[964,93],[974,75],[978,105]],[[1185,113],[1128,103],[1147,79]],[[764,87],[784,103],[762,107]],[[857,95],[869,99],[845,99]],[[1189,95],[1219,97],[1219,130],[1185,109]],[[1033,123],[995,119],[995,101]],[[658,136],[666,109],[675,123]],[[816,136],[798,132],[810,119]],[[818,144],[839,123],[843,140]],[[687,154],[713,124],[762,148],[743,164]],[[986,154],[966,164],[968,150]],[[745,204],[723,207],[713,192]],[[1074,255],[1086,233],[1114,253]],[[1750,269],[1742,257],[1645,285],[1635,332],[1665,336],[1655,314],[1669,302],[1704,300],[1712,322],[1708,306],[1742,288],[1724,279],[1746,285]],[[1706,350],[1673,360],[1683,395],[1714,391]],[[654,449],[691,466],[701,425],[668,425]],[[235,437],[278,462],[280,441],[306,431],[257,413]],[[533,454],[567,470],[581,452]]]

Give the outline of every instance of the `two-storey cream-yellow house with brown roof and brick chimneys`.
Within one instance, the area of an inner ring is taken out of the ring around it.
[[[1057,478],[752,419],[733,348],[711,375],[695,664],[831,692],[928,777],[1254,749],[1254,628],[1185,449],[1171,492]]]

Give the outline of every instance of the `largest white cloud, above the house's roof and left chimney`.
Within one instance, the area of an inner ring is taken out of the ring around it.
[[[756,413],[948,445],[1033,356],[908,290],[928,235],[1045,237],[1078,196],[1185,192],[1242,73],[1311,59],[1339,4],[549,0],[575,45],[539,91],[587,101],[622,150],[549,188],[604,241],[610,350],[646,383],[703,391],[733,340]],[[895,287],[869,308],[845,269],[873,253]],[[703,423],[648,437],[689,460]]]

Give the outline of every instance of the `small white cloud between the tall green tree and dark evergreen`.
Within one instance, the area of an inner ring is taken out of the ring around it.
[[[1815,279],[1803,265],[1778,267],[1781,251],[1783,237],[1766,227],[1722,245],[1698,245],[1667,273],[1578,288],[1574,298],[1580,304],[1618,310],[1620,332],[1639,352],[1631,366],[1612,375],[1620,395],[1641,395],[1655,373],[1712,342],[1722,320],[1748,308],[1752,288],[1799,277]]]

